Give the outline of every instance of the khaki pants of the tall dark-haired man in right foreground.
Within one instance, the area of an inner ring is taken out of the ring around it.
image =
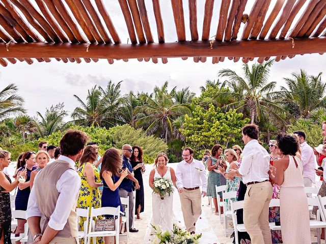
[[[243,224],[252,244],[271,244],[268,210],[273,188],[269,181],[247,187],[243,202]]]

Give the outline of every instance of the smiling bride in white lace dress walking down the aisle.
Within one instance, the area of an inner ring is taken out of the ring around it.
[[[164,153],[157,155],[155,159],[155,168],[152,169],[149,175],[149,186],[154,189],[154,179],[155,178],[166,178],[173,182],[175,188],[176,177],[173,168],[167,166],[169,162],[168,157]],[[166,195],[162,200],[159,194],[152,193],[152,218],[150,224],[147,227],[144,241],[145,243],[152,243],[154,236],[154,229],[152,225],[159,225],[163,231],[172,230],[174,222],[173,214],[173,193],[171,195]]]

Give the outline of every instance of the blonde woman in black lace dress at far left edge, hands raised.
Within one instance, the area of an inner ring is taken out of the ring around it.
[[[7,150],[0,150],[0,243],[11,243],[11,206],[9,192],[14,190],[19,178],[26,177],[26,170],[20,171],[20,176],[14,182],[6,175],[3,170],[8,167],[11,162],[11,154]]]

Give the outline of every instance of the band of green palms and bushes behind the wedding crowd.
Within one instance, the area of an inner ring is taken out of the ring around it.
[[[112,146],[138,144],[144,148],[145,162],[153,162],[162,151],[170,162],[177,162],[187,145],[199,155],[215,143],[241,144],[241,127],[249,122],[259,125],[265,143],[279,132],[303,130],[308,143],[319,144],[320,124],[326,120],[322,74],[285,74],[285,85],[278,88],[280,80],[270,79],[273,63],[245,64],[242,74],[220,70],[219,79],[202,82],[197,95],[189,87],[170,87],[167,81],[149,93],[122,94],[122,81],[108,81],[103,87],[87,87],[86,97],[73,95],[78,106],[72,111],[60,103],[36,117],[25,114],[18,87],[10,84],[0,90],[0,146],[14,158],[37,149],[40,140],[58,145],[68,128],[76,128],[90,135],[100,154]]]

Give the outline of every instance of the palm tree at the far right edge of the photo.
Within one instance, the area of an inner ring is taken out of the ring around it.
[[[317,76],[308,75],[304,70],[299,74],[292,73],[291,78],[284,78],[287,88],[282,86],[280,98],[284,106],[295,114],[296,118],[309,118],[313,110],[326,105],[326,83],[321,80],[321,72]]]

